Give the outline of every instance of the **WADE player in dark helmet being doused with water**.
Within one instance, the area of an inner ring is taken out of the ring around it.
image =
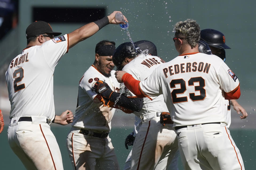
[[[126,70],[136,79],[144,80],[165,61],[157,56],[138,55],[139,52],[137,45],[134,48],[130,42],[123,43],[115,50],[113,62],[117,70]],[[105,83],[97,82],[94,89],[98,94],[103,97],[109,96],[109,100],[114,101],[113,96],[116,94],[108,90]],[[136,97],[128,89],[125,89],[125,94],[130,98]],[[136,116],[142,118],[143,122],[133,144],[130,169],[155,169],[162,159],[166,158],[168,165],[173,159],[178,150],[173,122],[169,119],[165,126],[159,123],[160,114],[167,112],[163,95],[155,97],[153,101],[145,98],[141,111],[134,112]],[[158,169],[166,169],[166,164],[162,164],[164,167],[158,167]]]

